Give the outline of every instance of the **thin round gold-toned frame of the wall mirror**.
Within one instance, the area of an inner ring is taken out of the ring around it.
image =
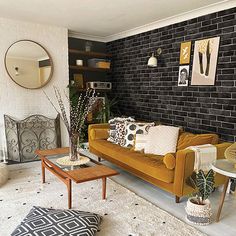
[[[27,41],[27,42],[31,42],[31,43],[37,44],[39,47],[41,47],[41,48],[47,53],[47,55],[48,55],[48,57],[49,57],[49,60],[50,60],[50,63],[51,63],[51,72],[50,72],[50,74],[49,74],[49,76],[48,76],[47,81],[46,81],[44,84],[42,84],[41,86],[39,86],[39,87],[36,87],[36,88],[28,88],[28,87],[25,87],[25,86],[23,86],[23,85],[17,83],[17,82],[12,78],[10,72],[9,72],[8,69],[7,69],[7,62],[6,62],[6,59],[7,59],[7,53],[8,53],[8,51],[10,50],[10,48],[11,48],[13,45],[15,45],[15,44],[17,44],[17,43],[19,43],[19,42],[22,42],[22,41]],[[18,40],[18,41],[16,41],[16,42],[12,43],[12,44],[8,47],[8,49],[7,49],[6,53],[5,53],[4,64],[5,64],[5,69],[6,69],[6,71],[7,71],[7,74],[8,74],[8,76],[11,78],[11,80],[12,80],[14,83],[16,83],[17,85],[19,85],[20,87],[25,88],[25,89],[40,89],[40,88],[44,87],[44,86],[47,85],[47,84],[49,83],[49,81],[52,79],[52,75],[53,75],[53,72],[54,72],[53,61],[52,61],[52,57],[51,57],[50,53],[49,53],[49,52],[47,51],[47,49],[46,49],[45,47],[43,47],[41,44],[39,44],[39,43],[37,43],[37,42],[35,42],[35,41],[33,41],[33,40],[30,40],[30,39],[21,39],[21,40]]]

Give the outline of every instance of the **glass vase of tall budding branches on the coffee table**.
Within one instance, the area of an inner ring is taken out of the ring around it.
[[[78,144],[79,144],[79,137],[81,135],[81,131],[83,125],[85,123],[86,117],[88,113],[92,110],[92,106],[96,101],[95,90],[88,89],[86,92],[81,93],[78,97],[77,101],[72,102],[65,94],[66,100],[70,105],[70,117],[68,117],[66,113],[66,106],[63,102],[61,92],[58,88],[54,87],[54,93],[60,107],[60,111],[57,107],[53,104],[52,100],[44,91],[49,102],[52,104],[54,109],[60,114],[63,123],[66,126],[66,129],[69,134],[69,142],[70,142],[70,160],[77,161],[80,156],[78,152]]]

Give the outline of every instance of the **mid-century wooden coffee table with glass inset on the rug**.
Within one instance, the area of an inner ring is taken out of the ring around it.
[[[66,166],[60,166],[56,160],[68,155],[69,148],[56,148],[50,150],[36,150],[35,153],[41,158],[42,165],[42,182],[45,183],[45,169],[49,170],[58,177],[67,187],[68,191],[68,208],[72,206],[72,186],[71,181],[75,183],[83,183],[91,180],[102,179],[102,199],[106,198],[106,178],[119,173],[101,163],[90,159],[89,166],[69,170]]]

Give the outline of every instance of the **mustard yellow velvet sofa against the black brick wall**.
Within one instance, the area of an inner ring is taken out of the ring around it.
[[[130,173],[152,183],[175,195],[176,202],[180,197],[194,192],[186,180],[194,169],[195,154],[186,147],[211,143],[217,147],[217,159],[224,158],[224,152],[231,143],[220,143],[216,134],[194,135],[182,132],[179,135],[176,153],[157,156],[136,152],[108,142],[108,124],[89,126],[89,150],[100,158],[110,161]],[[200,139],[200,142],[199,142]],[[216,186],[223,184],[225,177],[216,174]]]

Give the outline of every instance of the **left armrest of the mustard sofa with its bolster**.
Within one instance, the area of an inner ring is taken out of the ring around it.
[[[109,124],[92,124],[88,127],[89,142],[97,139],[107,139]]]

